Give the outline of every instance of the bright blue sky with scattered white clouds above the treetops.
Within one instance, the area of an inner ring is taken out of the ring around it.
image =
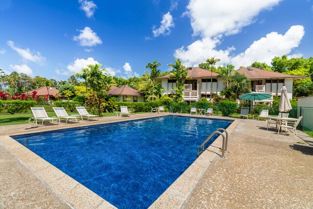
[[[313,56],[313,0],[0,0],[0,27],[0,69],[56,80]]]

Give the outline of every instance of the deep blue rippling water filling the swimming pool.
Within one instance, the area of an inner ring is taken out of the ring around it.
[[[162,116],[12,138],[115,207],[141,209],[196,160],[213,131],[231,122]]]

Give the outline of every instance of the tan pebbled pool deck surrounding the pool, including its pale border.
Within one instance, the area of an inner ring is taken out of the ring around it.
[[[0,209],[115,208],[9,135],[160,115],[0,126]],[[301,131],[296,138],[290,131],[277,135],[266,126],[266,121],[236,119],[227,128],[226,159],[219,157],[219,137],[150,208],[313,208],[313,139]]]

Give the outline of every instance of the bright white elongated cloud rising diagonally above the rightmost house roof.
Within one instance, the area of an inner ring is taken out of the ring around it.
[[[303,36],[304,27],[302,25],[291,26],[284,35],[277,32],[268,33],[266,37],[254,41],[245,52],[233,57],[231,63],[236,68],[248,66],[255,61],[270,65],[275,56],[289,54],[292,48],[299,46]]]

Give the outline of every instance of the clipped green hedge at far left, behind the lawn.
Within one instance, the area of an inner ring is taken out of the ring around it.
[[[35,101],[26,100],[0,100],[0,112],[7,111],[7,113],[22,113],[34,107],[37,104]]]

